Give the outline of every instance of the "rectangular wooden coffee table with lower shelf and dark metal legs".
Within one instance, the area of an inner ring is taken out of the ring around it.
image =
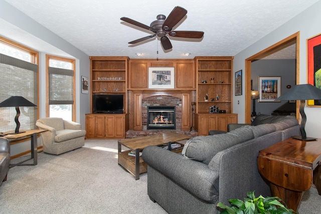
[[[191,136],[170,132],[146,137],[137,137],[124,140],[118,140],[118,164],[129,171],[135,179],[139,179],[139,174],[147,172],[147,164],[139,157],[141,152],[147,146],[158,146],[168,142],[190,139]],[[121,146],[125,146],[130,150],[121,151]],[[128,155],[130,151],[135,152],[135,156]]]

